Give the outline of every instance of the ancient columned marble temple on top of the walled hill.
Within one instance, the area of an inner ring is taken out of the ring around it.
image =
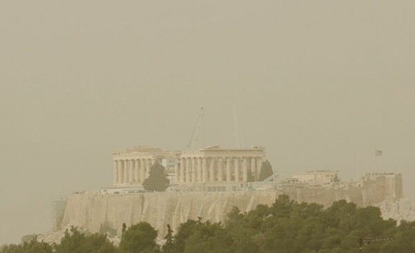
[[[264,151],[257,146],[221,149],[218,145],[176,152],[147,146],[114,151],[113,185],[141,185],[155,162],[172,171],[172,183],[176,185],[257,180]]]

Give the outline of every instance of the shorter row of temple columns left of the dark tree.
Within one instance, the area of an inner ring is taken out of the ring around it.
[[[114,160],[113,185],[144,182],[154,162],[154,159]]]

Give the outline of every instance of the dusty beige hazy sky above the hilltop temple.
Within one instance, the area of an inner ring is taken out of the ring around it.
[[[401,172],[415,200],[415,1],[0,1],[0,244],[112,182],[111,152],[266,147],[282,178]],[[359,158],[359,159],[358,159]]]

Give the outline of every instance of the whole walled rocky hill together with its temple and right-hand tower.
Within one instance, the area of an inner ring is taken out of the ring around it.
[[[102,227],[121,233],[122,223],[147,221],[165,235],[188,219],[224,221],[232,207],[249,212],[258,204],[270,205],[280,194],[297,202],[329,206],[347,200],[360,207],[403,198],[400,174],[367,174],[342,182],[337,171],[307,171],[277,182],[277,174],[258,182],[265,149],[163,151],[136,147],[113,152],[113,185],[89,193],[75,193],[55,202],[55,229],[75,225],[89,232]],[[166,168],[171,187],[165,192],[143,192],[142,182],[151,165]],[[253,178],[250,182],[249,178]],[[60,211],[59,211],[60,207]]]

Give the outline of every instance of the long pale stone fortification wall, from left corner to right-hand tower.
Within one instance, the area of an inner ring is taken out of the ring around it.
[[[66,203],[61,225],[75,225],[89,232],[99,232],[100,227],[106,225],[120,234],[122,223],[132,225],[147,221],[158,229],[159,236],[163,236],[167,224],[176,230],[181,223],[198,217],[204,221],[224,221],[234,206],[249,212],[258,204],[271,205],[280,194],[287,194],[297,202],[320,203],[325,207],[340,199],[365,207],[403,197],[400,175],[368,176],[363,178],[361,185],[285,191],[72,194]]]

